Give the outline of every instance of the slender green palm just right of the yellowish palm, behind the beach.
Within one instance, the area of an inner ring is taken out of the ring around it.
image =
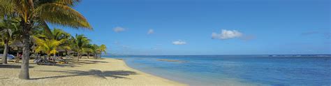
[[[86,48],[90,40],[82,34],[80,35],[76,34],[75,37],[71,38],[71,40],[73,43],[72,46],[73,50],[78,53],[77,61],[80,61],[80,58],[82,57],[83,48]]]

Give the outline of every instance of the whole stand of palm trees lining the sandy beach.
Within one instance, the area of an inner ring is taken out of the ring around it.
[[[73,29],[92,29],[83,15],[72,7],[80,0],[0,0],[0,30],[4,46],[3,64],[6,64],[8,45],[11,41],[22,43],[22,66],[19,78],[29,79],[30,52],[47,57],[59,54],[58,50],[77,52],[78,61],[82,53],[105,52],[105,45],[90,44],[86,36],[70,34],[61,29],[51,30],[47,24]],[[36,46],[31,50],[32,46]]]

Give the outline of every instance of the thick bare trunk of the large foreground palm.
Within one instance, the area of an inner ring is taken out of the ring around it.
[[[23,57],[22,57],[22,65],[20,69],[20,74],[18,78],[28,80],[29,77],[29,58],[30,58],[30,31],[31,27],[28,24],[24,24],[23,30]]]

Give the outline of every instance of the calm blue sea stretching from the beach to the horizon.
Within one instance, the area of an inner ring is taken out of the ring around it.
[[[189,85],[331,85],[330,55],[105,57],[124,59],[133,69]]]

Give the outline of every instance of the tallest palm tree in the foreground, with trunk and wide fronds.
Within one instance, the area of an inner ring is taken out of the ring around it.
[[[41,24],[49,29],[48,24],[66,27],[91,29],[87,20],[75,9],[80,0],[0,0],[0,15],[18,17],[22,27],[23,57],[19,78],[29,79],[30,35],[34,25]]]

